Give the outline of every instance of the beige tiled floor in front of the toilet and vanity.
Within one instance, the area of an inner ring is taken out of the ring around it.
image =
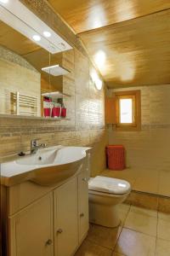
[[[115,229],[90,224],[75,256],[170,256],[170,214],[122,204]]]

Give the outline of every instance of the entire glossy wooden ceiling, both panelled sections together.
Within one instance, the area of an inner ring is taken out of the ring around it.
[[[82,39],[106,84],[170,84],[169,0],[48,0]]]

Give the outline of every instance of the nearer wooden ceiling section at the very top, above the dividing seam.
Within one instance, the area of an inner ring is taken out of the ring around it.
[[[76,33],[170,8],[169,0],[48,0]]]

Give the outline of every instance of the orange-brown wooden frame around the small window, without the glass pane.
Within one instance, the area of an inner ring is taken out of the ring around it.
[[[141,130],[141,98],[140,90],[116,91],[114,93],[116,103],[116,130],[117,131],[140,131]],[[120,99],[133,99],[133,123],[120,123]]]

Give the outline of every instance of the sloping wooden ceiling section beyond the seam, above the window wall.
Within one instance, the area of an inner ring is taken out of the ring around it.
[[[109,87],[170,83],[170,9],[81,38]]]

